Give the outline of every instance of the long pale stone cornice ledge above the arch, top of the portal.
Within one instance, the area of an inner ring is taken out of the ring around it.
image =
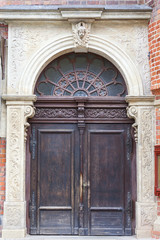
[[[0,8],[0,21],[9,20],[69,20],[69,19],[142,19],[149,20],[152,8],[132,6],[7,6]]]

